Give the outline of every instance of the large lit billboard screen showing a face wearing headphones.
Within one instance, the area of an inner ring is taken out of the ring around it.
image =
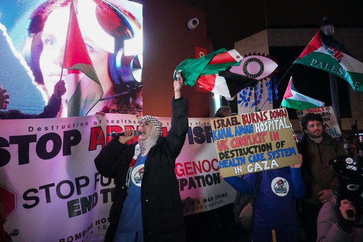
[[[0,85],[11,94],[8,109],[39,113],[61,78],[71,0],[6,2],[0,6]],[[142,114],[142,5],[127,0],[74,0],[74,9],[103,91],[88,115],[97,111]],[[63,70],[67,92],[58,116],[67,116],[74,94],[72,74]],[[92,93],[87,90],[91,88],[80,85],[80,92]]]

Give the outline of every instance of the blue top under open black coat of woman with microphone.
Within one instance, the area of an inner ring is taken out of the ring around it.
[[[141,182],[144,175],[146,156],[141,154],[131,170],[130,187],[118,221],[114,242],[143,241],[143,227],[141,215]]]

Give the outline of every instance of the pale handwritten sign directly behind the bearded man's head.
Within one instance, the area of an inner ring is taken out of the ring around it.
[[[311,109],[305,109],[305,110],[296,110],[297,112],[297,118],[299,119],[299,124],[302,133],[306,133],[305,130],[302,129],[301,126],[301,119],[305,116],[307,113],[319,113],[323,118],[323,126],[325,131],[333,138],[337,138],[341,136],[341,131],[338,125],[338,121],[336,119],[334,109],[332,106],[327,107],[317,107],[317,108],[311,108]]]

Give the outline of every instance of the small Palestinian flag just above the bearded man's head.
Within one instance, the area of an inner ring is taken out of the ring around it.
[[[324,105],[324,102],[298,93],[293,86],[292,77],[290,77],[289,84],[287,85],[285,94],[282,98],[281,106],[303,110],[309,108],[323,107]]]

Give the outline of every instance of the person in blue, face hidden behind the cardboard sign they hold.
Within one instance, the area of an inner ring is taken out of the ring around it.
[[[302,161],[302,156],[299,155]],[[260,185],[253,205],[252,239],[258,242],[292,242],[297,238],[296,199],[305,195],[301,163],[261,171]],[[224,178],[235,190],[252,194],[258,173]]]

